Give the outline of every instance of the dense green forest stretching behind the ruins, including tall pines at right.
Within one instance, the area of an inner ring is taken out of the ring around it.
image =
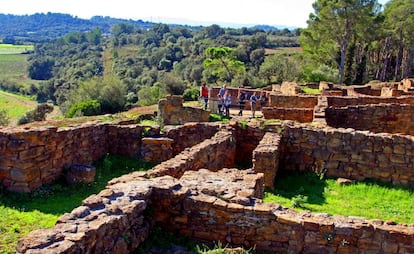
[[[317,0],[313,8],[308,26],[295,30],[112,20],[110,29],[59,34],[36,42],[28,75],[41,82],[25,91],[73,116],[150,105],[166,94],[195,99],[201,83],[260,88],[283,81],[351,85],[413,77],[412,0],[385,6],[377,0]],[[3,42],[20,38],[2,36]],[[10,87],[0,81],[1,89]]]

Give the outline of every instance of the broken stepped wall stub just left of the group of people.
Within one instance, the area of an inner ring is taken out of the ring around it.
[[[210,111],[183,107],[183,97],[170,95],[158,102],[158,113],[164,125],[177,125],[187,122],[208,122]]]

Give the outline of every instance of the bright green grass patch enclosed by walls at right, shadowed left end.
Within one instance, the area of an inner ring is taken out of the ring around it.
[[[414,223],[414,187],[365,181],[339,185],[317,174],[280,174],[265,202],[330,215],[360,216],[397,223]]]

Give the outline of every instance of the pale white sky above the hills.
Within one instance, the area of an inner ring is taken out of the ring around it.
[[[385,4],[389,0],[378,0]],[[0,13],[65,13],[156,23],[304,28],[313,0],[1,0]]]

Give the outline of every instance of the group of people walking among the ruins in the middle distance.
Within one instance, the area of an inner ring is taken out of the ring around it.
[[[203,99],[204,101],[204,110],[207,109],[207,104],[208,104],[208,88],[206,84],[202,84],[200,87],[200,97]],[[230,106],[231,106],[231,102],[232,102],[232,98],[231,98],[231,94],[230,91],[227,89],[226,84],[224,84],[218,94],[217,94],[217,106],[218,106],[218,113],[225,115],[227,117],[230,116]],[[241,89],[239,87],[238,90],[238,94],[237,94],[237,99],[239,102],[239,116],[243,115],[243,110],[245,108],[246,105],[246,101],[248,101],[250,103],[250,109],[252,112],[252,117],[255,117],[256,114],[256,109],[257,109],[257,104],[259,103],[262,107],[263,104],[266,102],[266,96],[265,93],[262,91],[260,93],[260,95],[257,94],[256,91],[254,91],[250,96],[247,94],[246,91],[244,91],[243,89]]]

